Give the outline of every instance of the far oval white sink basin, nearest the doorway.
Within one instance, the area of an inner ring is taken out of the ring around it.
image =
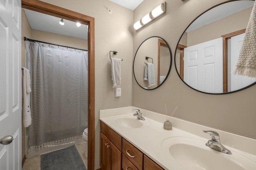
[[[150,122],[148,120],[143,121],[143,120],[136,119],[136,117],[132,117],[132,118],[120,117],[115,120],[115,123],[118,126],[125,127],[125,128],[132,128],[132,129],[140,128],[145,125],[150,125]]]

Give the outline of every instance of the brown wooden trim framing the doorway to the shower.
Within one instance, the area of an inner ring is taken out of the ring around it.
[[[94,71],[94,18],[39,0],[21,0],[22,8],[41,12],[88,25],[88,158],[87,169],[94,169],[94,110],[95,110],[95,71]]]

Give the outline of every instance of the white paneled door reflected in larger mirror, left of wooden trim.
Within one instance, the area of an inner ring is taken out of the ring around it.
[[[223,41],[214,39],[184,49],[184,81],[208,93],[223,92]]]

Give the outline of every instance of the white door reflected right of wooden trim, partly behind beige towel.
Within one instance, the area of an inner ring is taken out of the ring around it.
[[[231,37],[231,51],[230,51],[230,55],[231,55],[231,57],[230,57],[231,66],[230,67],[231,67],[231,71],[232,71],[232,73],[230,75],[231,76],[231,83],[230,83],[231,91],[244,88],[256,81],[256,78],[236,75],[233,73],[233,71],[235,70],[237,61],[238,61],[242,43],[244,41],[244,35],[245,35],[245,33]]]

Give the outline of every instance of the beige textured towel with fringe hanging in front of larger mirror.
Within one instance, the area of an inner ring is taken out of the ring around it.
[[[245,31],[234,74],[256,77],[256,2]]]

